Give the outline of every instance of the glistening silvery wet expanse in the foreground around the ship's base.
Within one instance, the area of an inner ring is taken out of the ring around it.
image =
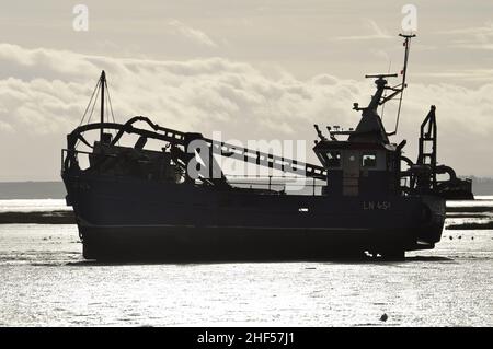
[[[3,326],[491,326],[492,277],[488,230],[400,263],[101,265],[74,225],[0,225]]]

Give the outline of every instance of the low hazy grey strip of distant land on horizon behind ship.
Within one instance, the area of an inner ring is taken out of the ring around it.
[[[472,178],[474,195],[493,195],[493,178]],[[0,200],[5,199],[64,199],[61,182],[0,182]]]

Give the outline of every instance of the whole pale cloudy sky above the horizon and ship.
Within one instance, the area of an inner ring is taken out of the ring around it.
[[[493,176],[491,0],[0,0],[0,181],[59,178],[66,133],[102,69],[119,121],[146,115],[225,140],[308,144],[312,124],[353,127],[353,103],[372,91],[364,74],[401,69],[406,3],[417,38],[392,140],[408,139],[414,159],[435,104],[439,161]],[[89,9],[88,31],[73,28],[77,4]]]

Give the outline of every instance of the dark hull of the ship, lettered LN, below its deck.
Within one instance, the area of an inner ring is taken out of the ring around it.
[[[259,195],[99,175],[65,175],[88,259],[324,259],[433,248],[433,196]]]

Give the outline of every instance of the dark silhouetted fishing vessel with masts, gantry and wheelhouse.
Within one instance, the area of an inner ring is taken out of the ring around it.
[[[471,198],[471,182],[437,163],[435,106],[421,125],[415,162],[403,154],[405,140],[390,141],[398,123],[387,132],[379,108],[399,100],[400,113],[415,35],[400,36],[400,83],[388,83],[399,74],[366,75],[375,79],[376,92],[367,106],[353,105],[362,115],[355,128],[326,127],[324,135],[314,125],[312,150],[320,164],[162,127],[145,116],[111,121],[103,71],[85,109],[89,113],[92,105],[93,110],[101,100],[99,123],[83,124],[84,113],[61,152],[67,205],[73,208],[83,257],[402,259],[406,252],[434,248],[440,241],[446,200]],[[91,131],[99,132],[93,142],[85,137]],[[137,141],[122,146],[127,136]],[[160,142],[161,149],[146,147],[149,140]],[[272,174],[236,184],[217,158],[302,177],[310,193],[290,193]]]

